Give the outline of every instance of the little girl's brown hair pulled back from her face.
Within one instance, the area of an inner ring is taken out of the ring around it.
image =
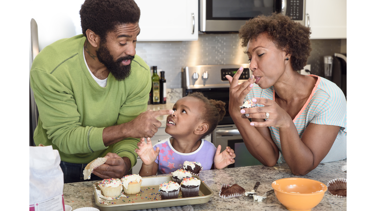
[[[204,103],[204,110],[202,111],[201,119],[209,124],[208,131],[201,137],[211,134],[211,132],[217,127],[218,123],[223,119],[226,114],[225,103],[222,101],[212,100],[205,97],[201,92],[192,92],[187,96],[198,98]]]

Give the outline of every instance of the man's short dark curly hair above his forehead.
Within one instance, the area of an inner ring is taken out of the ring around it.
[[[82,33],[90,29],[100,38],[114,31],[118,24],[137,23],[140,8],[134,0],[85,0],[80,10]]]

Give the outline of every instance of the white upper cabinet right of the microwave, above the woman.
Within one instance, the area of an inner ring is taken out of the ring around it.
[[[306,0],[311,39],[346,39],[346,0]]]

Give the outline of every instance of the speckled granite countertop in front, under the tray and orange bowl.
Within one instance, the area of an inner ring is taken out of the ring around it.
[[[335,178],[347,178],[347,173],[341,170],[347,161],[336,161],[320,164],[305,176],[295,176],[286,164],[277,164],[274,167],[249,166],[238,168],[204,170],[200,173],[200,179],[214,192],[209,202],[205,204],[192,205],[194,211],[212,211],[212,210],[267,210],[279,211],[286,208],[278,201],[275,194],[272,193],[263,202],[254,202],[252,198],[241,196],[238,198],[223,199],[219,197],[219,190],[222,184],[238,184],[246,191],[251,191],[256,182],[260,182],[257,192],[263,194],[272,190],[273,181],[281,178],[300,177],[320,181],[325,185]],[[165,174],[160,175],[165,176]],[[96,181],[94,181],[96,182]],[[64,184],[64,202],[70,205],[73,210],[81,207],[94,207],[93,181],[67,183]],[[328,191],[325,193],[322,201],[312,209],[312,211],[342,211],[346,210],[347,197],[332,196]]]

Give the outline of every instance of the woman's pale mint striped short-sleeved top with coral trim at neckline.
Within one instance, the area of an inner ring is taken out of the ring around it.
[[[338,161],[347,158],[347,128],[346,128],[346,98],[342,90],[329,80],[318,77],[316,75],[310,75],[317,77],[317,82],[309,96],[307,102],[296,115],[293,120],[299,137],[305,131],[305,128],[309,123],[318,125],[332,125],[341,127],[338,135],[330,148],[327,156],[321,161],[321,163]],[[245,100],[251,100],[254,97],[262,97],[270,100],[275,99],[275,91],[273,86],[261,89],[257,84],[254,84],[252,90],[248,93]],[[264,106],[258,104],[258,106]],[[269,127],[271,136],[280,149],[280,157],[278,163],[283,163],[284,158],[281,149],[281,140],[278,127]]]

